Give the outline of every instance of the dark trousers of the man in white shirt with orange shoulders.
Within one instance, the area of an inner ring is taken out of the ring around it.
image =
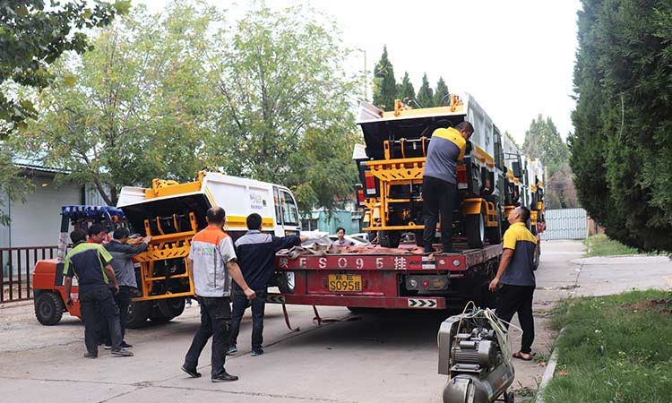
[[[189,351],[185,356],[185,367],[196,369],[198,358],[208,339],[212,337],[212,377],[224,373],[224,360],[227,356],[228,328],[231,320],[231,299],[225,297],[196,297],[201,305],[201,327],[196,331]]]

